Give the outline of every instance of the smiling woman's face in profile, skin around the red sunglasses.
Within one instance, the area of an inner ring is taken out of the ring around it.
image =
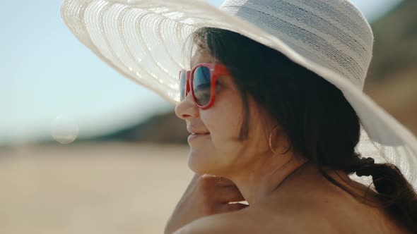
[[[192,66],[199,63],[217,63],[204,50],[192,58]],[[254,160],[253,156],[268,151],[264,125],[259,121],[256,107],[249,101],[249,138],[239,140],[243,116],[242,98],[233,78],[221,76],[216,88],[216,100],[209,109],[199,109],[191,92],[175,107],[175,113],[187,123],[189,133],[200,133],[188,138],[189,168],[196,173],[225,175],[240,170]]]

